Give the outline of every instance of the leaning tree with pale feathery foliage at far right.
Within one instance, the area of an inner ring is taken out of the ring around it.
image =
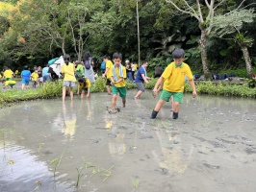
[[[235,10],[234,12],[216,16],[212,23],[214,33],[219,37],[236,34],[233,40],[240,46],[243,52],[248,78],[251,78],[253,75],[248,52],[248,47],[252,46],[253,39],[245,36],[245,33],[243,34],[241,30],[244,23],[252,23],[255,17],[256,13],[253,9]]]

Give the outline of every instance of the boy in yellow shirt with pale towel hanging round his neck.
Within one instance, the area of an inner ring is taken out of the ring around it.
[[[126,86],[124,82],[124,78],[126,77],[125,67],[121,64],[122,55],[115,53],[113,55],[113,60],[115,62],[114,66],[111,70],[111,83],[112,83],[112,112],[117,112],[116,108],[116,100],[117,93],[122,98],[122,107],[125,108],[126,105]]]

